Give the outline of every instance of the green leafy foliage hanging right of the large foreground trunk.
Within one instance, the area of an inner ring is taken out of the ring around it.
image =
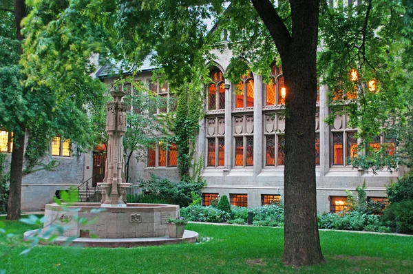
[[[412,163],[413,123],[407,117],[413,114],[413,26],[406,24],[412,18],[412,4],[405,0],[365,1],[336,9],[327,2],[321,5],[323,46],[317,65],[331,92],[327,122],[348,113],[349,127],[358,129],[361,144],[357,157],[350,159],[353,167],[392,171]],[[356,81],[350,80],[352,69],[359,74]],[[369,90],[371,80],[376,90]],[[369,145],[375,136],[385,139],[379,149]]]

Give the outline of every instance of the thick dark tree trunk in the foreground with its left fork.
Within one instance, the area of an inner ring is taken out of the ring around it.
[[[291,36],[271,1],[251,1],[277,46],[286,87],[283,261],[321,264],[315,184],[319,1],[290,0]]]

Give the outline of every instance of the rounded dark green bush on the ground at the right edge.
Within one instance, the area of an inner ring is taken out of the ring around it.
[[[399,233],[413,233],[413,200],[392,202],[383,212],[383,222]]]

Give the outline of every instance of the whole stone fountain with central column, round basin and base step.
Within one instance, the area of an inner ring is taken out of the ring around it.
[[[123,136],[127,130],[127,104],[123,92],[111,92],[114,100],[107,103],[106,131],[109,136],[105,178],[98,186],[103,188],[98,202],[46,204],[46,221],[43,231],[50,224],[63,226],[64,232],[54,243],[61,244],[70,237],[82,246],[136,246],[195,242],[198,233],[185,231],[181,239],[169,238],[166,220],[177,218],[179,206],[173,204],[128,204],[123,172]],[[88,220],[87,223],[83,220]],[[25,238],[30,237],[28,231]],[[92,238],[96,235],[98,238]]]

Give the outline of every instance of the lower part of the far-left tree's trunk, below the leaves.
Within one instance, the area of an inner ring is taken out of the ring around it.
[[[19,220],[21,213],[21,179],[23,178],[24,134],[13,141],[12,162],[10,164],[10,189],[6,220]]]

